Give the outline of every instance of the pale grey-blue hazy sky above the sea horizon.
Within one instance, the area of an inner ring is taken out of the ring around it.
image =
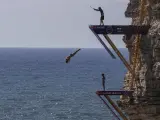
[[[88,28],[99,24],[129,25],[124,12],[129,0],[1,0],[0,47],[101,48]],[[119,48],[122,36],[111,36]],[[108,45],[108,44],[107,44]]]

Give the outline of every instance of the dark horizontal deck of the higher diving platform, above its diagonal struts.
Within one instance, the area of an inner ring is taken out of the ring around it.
[[[150,28],[149,25],[89,25],[96,34],[142,34],[146,35]]]

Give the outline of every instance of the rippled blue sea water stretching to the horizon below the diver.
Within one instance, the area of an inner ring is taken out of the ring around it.
[[[82,49],[66,64],[74,50],[1,48],[0,120],[113,120],[95,92],[102,72],[107,89],[120,89],[124,65],[104,49]]]

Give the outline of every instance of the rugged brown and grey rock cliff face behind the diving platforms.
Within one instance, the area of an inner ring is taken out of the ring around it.
[[[130,0],[125,11],[125,16],[132,18],[133,25],[139,24],[139,3],[140,0]],[[136,71],[134,102],[131,105],[128,97],[121,96],[121,106],[131,120],[160,120],[160,0],[145,0],[145,8],[147,14],[143,24],[151,25],[151,28],[140,41],[141,67]],[[134,40],[135,36],[132,36],[129,41],[134,44]],[[131,79],[127,73],[124,89],[129,90]]]

